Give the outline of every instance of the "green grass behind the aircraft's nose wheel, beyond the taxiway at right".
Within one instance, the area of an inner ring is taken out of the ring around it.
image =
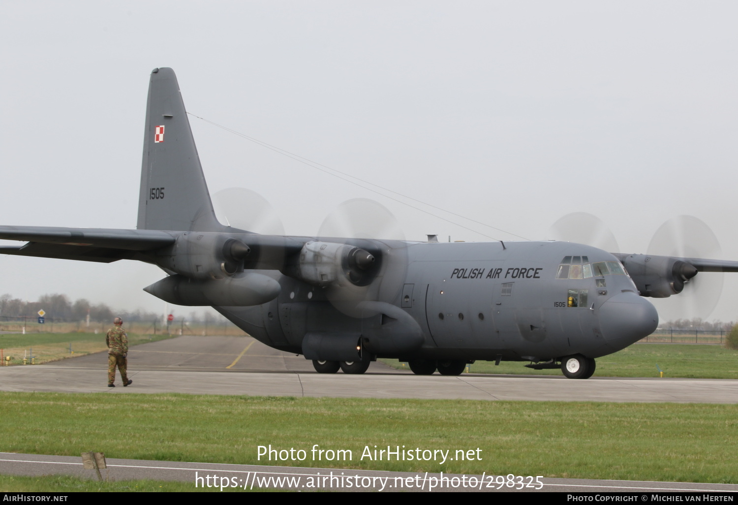
[[[398,360],[381,360],[393,368],[409,370]],[[597,358],[595,377],[689,377],[738,379],[738,351],[721,346],[680,344],[635,344],[615,354]],[[469,365],[474,374],[561,375],[556,370],[531,370],[523,362],[477,361]],[[656,368],[658,365],[658,368]]]

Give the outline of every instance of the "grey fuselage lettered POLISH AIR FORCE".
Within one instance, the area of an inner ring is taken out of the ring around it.
[[[374,353],[378,357],[545,361],[582,354],[594,358],[630,346],[658,326],[652,304],[638,295],[622,269],[618,272],[618,259],[594,247],[557,241],[504,246],[500,242],[375,243],[393,254],[384,258],[374,299],[399,307],[423,334],[418,348],[379,350]],[[612,272],[601,267],[607,262]],[[320,287],[274,270],[259,272],[279,282],[281,292],[275,300],[261,306],[216,309],[268,346],[302,354],[306,334],[373,335],[387,320],[382,315],[346,315]],[[401,339],[402,330],[385,337]]]

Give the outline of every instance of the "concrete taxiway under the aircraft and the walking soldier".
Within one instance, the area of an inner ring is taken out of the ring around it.
[[[417,376],[372,363],[367,374],[317,374],[303,357],[251,337],[177,337],[131,348],[128,388],[108,388],[107,355],[0,367],[0,391],[247,394],[360,398],[738,403],[733,379],[571,380],[564,377]]]

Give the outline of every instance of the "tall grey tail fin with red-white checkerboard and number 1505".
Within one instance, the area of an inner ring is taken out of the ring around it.
[[[154,69],[148,87],[139,230],[218,231],[213,203],[174,71]]]

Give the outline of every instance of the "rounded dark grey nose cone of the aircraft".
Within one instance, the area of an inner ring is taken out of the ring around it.
[[[621,292],[601,305],[599,322],[607,343],[621,349],[652,334],[658,326],[658,312],[635,292]]]

